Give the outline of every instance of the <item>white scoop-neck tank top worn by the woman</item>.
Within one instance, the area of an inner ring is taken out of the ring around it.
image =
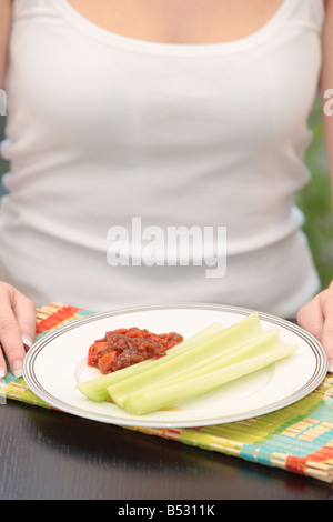
[[[319,290],[294,195],[309,181],[323,19],[322,0],[284,0],[241,40],[169,44],[109,32],[67,0],[14,0],[2,278],[37,304],[294,315]],[[125,240],[108,231],[131,238],[133,218],[147,248],[154,231],[226,230],[225,273],[208,277],[206,258],[173,265],[161,242],[159,262],[112,265]]]

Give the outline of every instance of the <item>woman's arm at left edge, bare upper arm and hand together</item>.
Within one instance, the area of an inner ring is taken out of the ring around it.
[[[0,0],[0,89],[6,74],[11,7],[12,0]],[[21,374],[26,354],[23,343],[30,344],[34,332],[36,308],[33,303],[13,287],[0,281],[0,343],[11,371],[18,377]],[[0,379],[7,373],[2,350],[0,348]]]

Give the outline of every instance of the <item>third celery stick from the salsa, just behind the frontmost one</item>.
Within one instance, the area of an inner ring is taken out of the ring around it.
[[[279,339],[278,329],[272,329],[266,332],[263,331],[250,342],[232,347],[231,349],[222,351],[222,353],[215,353],[210,358],[204,358],[204,360],[200,360],[199,363],[193,365],[190,364],[182,371],[175,371],[172,375],[169,375],[165,379],[154,380],[150,384],[148,384],[147,381],[143,383],[139,382],[138,385],[134,383],[130,389],[111,385],[108,388],[108,392],[117,405],[125,408],[127,400],[132,393],[141,393],[143,390],[151,391],[155,388],[161,388],[161,385],[167,387],[169,384],[174,384],[175,382],[182,381],[184,378],[193,379],[194,377],[203,375],[204,373],[240,362],[244,358],[276,350],[280,345],[282,345],[282,343]]]

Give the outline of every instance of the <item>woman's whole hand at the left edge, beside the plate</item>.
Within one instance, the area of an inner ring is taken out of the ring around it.
[[[22,375],[26,351],[36,335],[36,307],[26,295],[0,281],[0,379],[9,368],[16,377]]]

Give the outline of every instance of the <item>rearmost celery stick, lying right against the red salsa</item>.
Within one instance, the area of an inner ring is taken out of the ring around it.
[[[200,332],[191,335],[186,340],[175,344],[174,347],[170,348],[167,352],[168,358],[171,355],[174,357],[178,353],[183,351],[188,351],[192,349],[194,345],[198,345],[199,342],[202,342],[205,339],[210,339],[212,335],[223,331],[222,324],[212,323],[209,327],[204,328]],[[164,358],[162,358],[164,359]],[[159,360],[162,360],[159,359]],[[153,359],[148,359],[142,362],[138,362],[128,368],[123,368],[122,370],[118,370],[113,373],[108,373],[107,375],[101,375],[95,379],[91,379],[89,381],[81,382],[77,385],[78,390],[85,395],[88,399],[94,402],[102,402],[107,399],[110,399],[107,388],[113,383],[122,381],[125,378],[139,374],[147,370],[153,362],[157,362]]]

